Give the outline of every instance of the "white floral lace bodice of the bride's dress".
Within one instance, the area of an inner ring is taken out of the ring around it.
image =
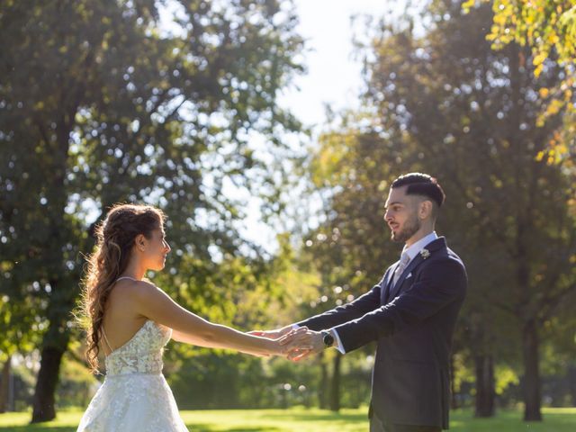
[[[172,329],[148,320],[124,345],[106,356],[106,376],[161,374],[162,352]]]

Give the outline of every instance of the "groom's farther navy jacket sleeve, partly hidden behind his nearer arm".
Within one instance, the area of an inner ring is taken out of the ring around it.
[[[386,275],[388,272],[386,272]],[[349,302],[345,305],[338,306],[331,311],[321,313],[307,320],[298,322],[299,326],[306,326],[312,330],[330,329],[350,320],[356,320],[364,316],[370,311],[374,311],[382,304],[380,301],[380,294],[382,293],[383,281],[386,280],[386,275],[382,280],[375,284],[372,290],[358,297],[355,301]]]

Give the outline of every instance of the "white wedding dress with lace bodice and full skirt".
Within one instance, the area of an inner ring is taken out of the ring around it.
[[[187,432],[162,374],[172,329],[148,320],[106,357],[106,377],[76,432]]]

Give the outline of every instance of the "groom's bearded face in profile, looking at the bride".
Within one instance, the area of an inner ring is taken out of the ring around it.
[[[419,199],[415,195],[407,195],[408,186],[390,189],[386,200],[384,220],[391,229],[391,238],[398,243],[405,243],[421,227],[418,217]]]

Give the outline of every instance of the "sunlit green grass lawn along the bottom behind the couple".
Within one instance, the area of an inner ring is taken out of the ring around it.
[[[454,432],[574,432],[576,408],[544,409],[541,423],[521,421],[519,411],[500,411],[495,419],[473,419],[470,410],[451,413]],[[186,426],[197,432],[366,432],[366,410],[211,410],[181,411]],[[56,421],[28,425],[30,413],[0,414],[5,432],[75,432],[80,411],[60,412]]]

